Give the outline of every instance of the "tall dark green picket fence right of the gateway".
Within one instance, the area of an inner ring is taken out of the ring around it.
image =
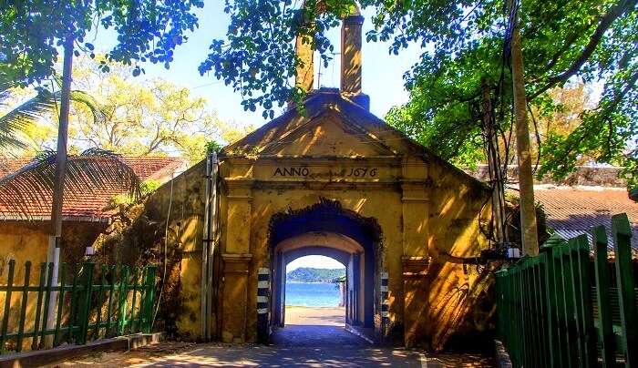
[[[551,239],[537,257],[497,272],[498,330],[515,367],[638,366],[636,289],[626,214],[604,228]]]

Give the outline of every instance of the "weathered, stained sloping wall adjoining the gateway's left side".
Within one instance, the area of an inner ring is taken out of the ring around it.
[[[164,234],[166,221],[169,220],[169,236],[166,242],[169,270],[160,313],[162,318],[168,317],[175,321],[181,337],[186,340],[195,340],[201,333],[204,176],[205,162],[201,162],[164,184],[147,199],[144,209],[137,214],[136,221],[149,223],[148,227],[140,226],[136,231],[124,231],[125,238],[150,235],[151,232],[155,234],[155,237],[150,239],[126,241],[130,248],[152,250],[156,254],[152,262],[160,266],[161,275]],[[121,243],[121,240],[119,241]]]

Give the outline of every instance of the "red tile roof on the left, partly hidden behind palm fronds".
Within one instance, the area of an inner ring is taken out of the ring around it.
[[[173,174],[177,175],[185,169],[187,161],[183,158],[169,157],[123,157],[122,158],[139,179],[148,179],[165,182],[171,179]],[[0,160],[0,177],[11,174],[22,168],[30,158],[4,158]],[[123,194],[126,189],[87,189],[85,193],[74,193],[72,198],[65,198],[62,214],[65,220],[87,220],[101,221],[108,220],[109,211],[106,210],[110,199]],[[0,203],[2,207],[2,203]],[[33,220],[50,219],[51,199],[47,198],[44,204],[32,204]],[[0,219],[20,220],[19,216],[8,216],[0,214]]]

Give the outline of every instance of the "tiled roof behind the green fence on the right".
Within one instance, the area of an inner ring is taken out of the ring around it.
[[[612,240],[612,215],[627,213],[632,247],[638,251],[638,203],[629,199],[626,189],[538,186],[534,196],[543,205],[548,225],[564,239],[586,234],[592,240],[592,227],[603,225]]]

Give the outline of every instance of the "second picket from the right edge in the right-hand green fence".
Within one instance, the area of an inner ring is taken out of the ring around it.
[[[596,303],[598,306],[598,340],[601,342],[602,366],[616,365],[613,344],[615,337],[612,329],[612,311],[610,309],[609,261],[607,259],[607,233],[603,226],[593,229],[593,244],[596,249],[594,269],[596,277]]]

